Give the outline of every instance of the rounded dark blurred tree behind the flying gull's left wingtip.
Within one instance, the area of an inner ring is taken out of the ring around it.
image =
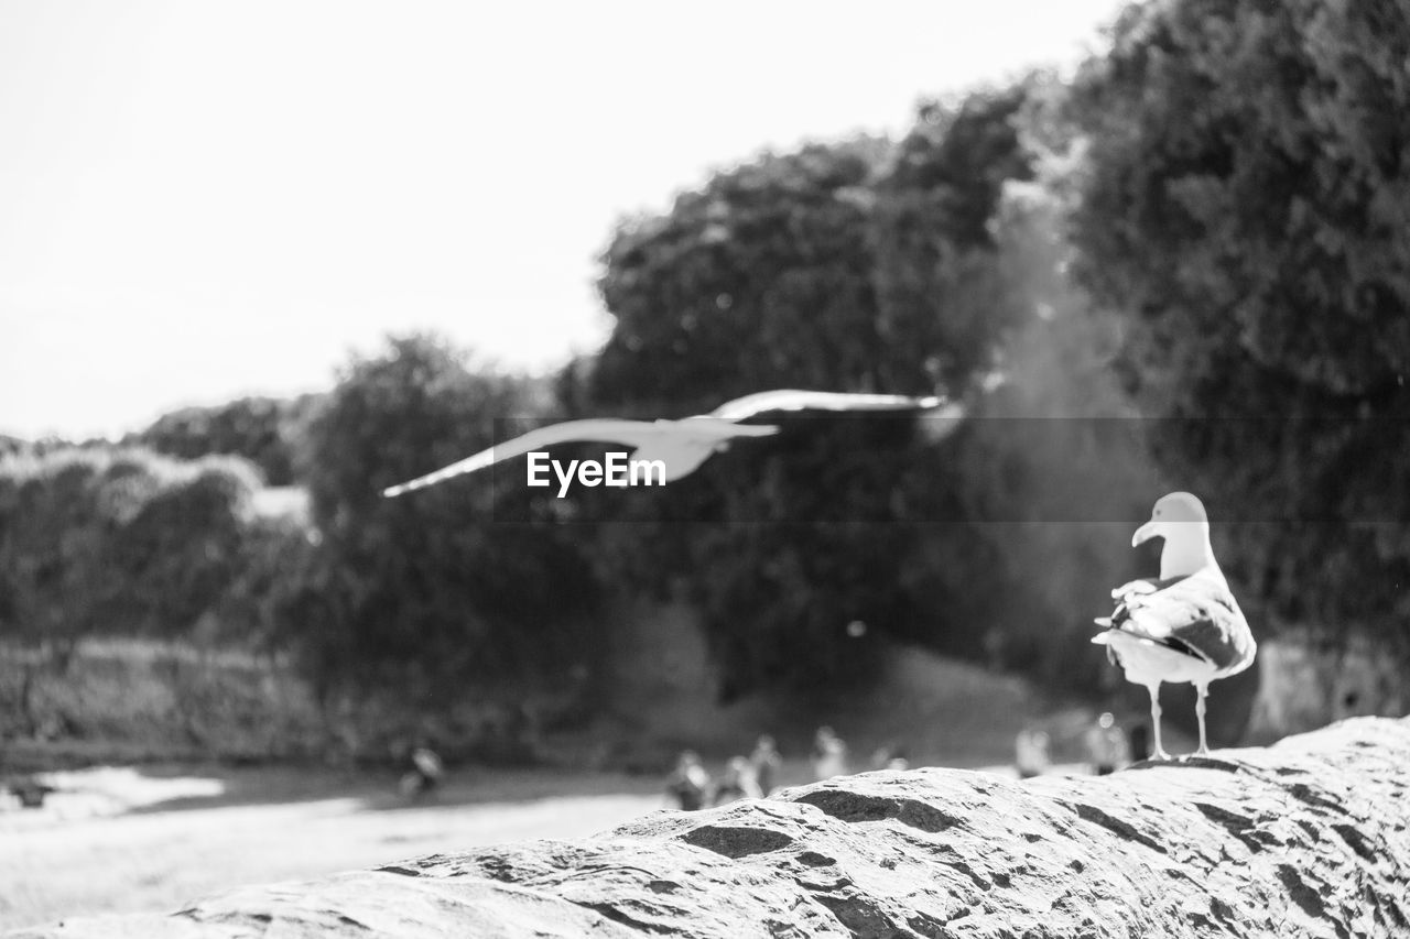
[[[541,393],[471,371],[426,336],[393,338],[343,374],[303,457],[321,558],[312,589],[282,601],[312,610],[306,651],[323,688],[400,685],[424,705],[465,696],[470,681],[485,695],[522,694],[526,681],[592,664],[596,588],[561,526],[496,522],[492,475],[381,496],[491,446],[496,426],[541,409]]]

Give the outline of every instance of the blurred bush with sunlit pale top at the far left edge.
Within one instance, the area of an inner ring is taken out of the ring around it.
[[[0,460],[0,639],[27,657],[27,688],[87,636],[189,633],[240,570],[255,486],[237,458],[89,447]]]

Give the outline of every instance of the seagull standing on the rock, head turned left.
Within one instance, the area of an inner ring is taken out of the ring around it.
[[[1198,692],[1198,753],[1208,753],[1204,698],[1215,678],[1235,675],[1253,663],[1256,646],[1248,620],[1210,547],[1210,517],[1189,492],[1172,492],[1155,503],[1151,520],[1131,536],[1131,547],[1163,537],[1159,579],[1139,579],[1111,591],[1115,612],[1097,620],[1107,630],[1091,642],[1107,647],[1127,681],[1151,692],[1155,757],[1170,759],[1160,746],[1160,682],[1189,681]]]

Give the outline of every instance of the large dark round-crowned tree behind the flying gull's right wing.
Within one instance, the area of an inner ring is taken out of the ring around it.
[[[601,279],[615,329],[561,386],[595,413],[643,416],[770,388],[967,392],[1031,313],[995,276],[988,234],[1004,180],[1029,175],[1024,94],[928,106],[900,147],[766,155],[623,224]],[[945,501],[916,471],[914,419],[771,423],[784,433],[736,447],[747,455],[618,499],[623,524],[602,533],[616,574],[682,588],[705,613],[725,698],[867,677],[877,646],[853,620],[932,637],[898,587],[908,519]]]

